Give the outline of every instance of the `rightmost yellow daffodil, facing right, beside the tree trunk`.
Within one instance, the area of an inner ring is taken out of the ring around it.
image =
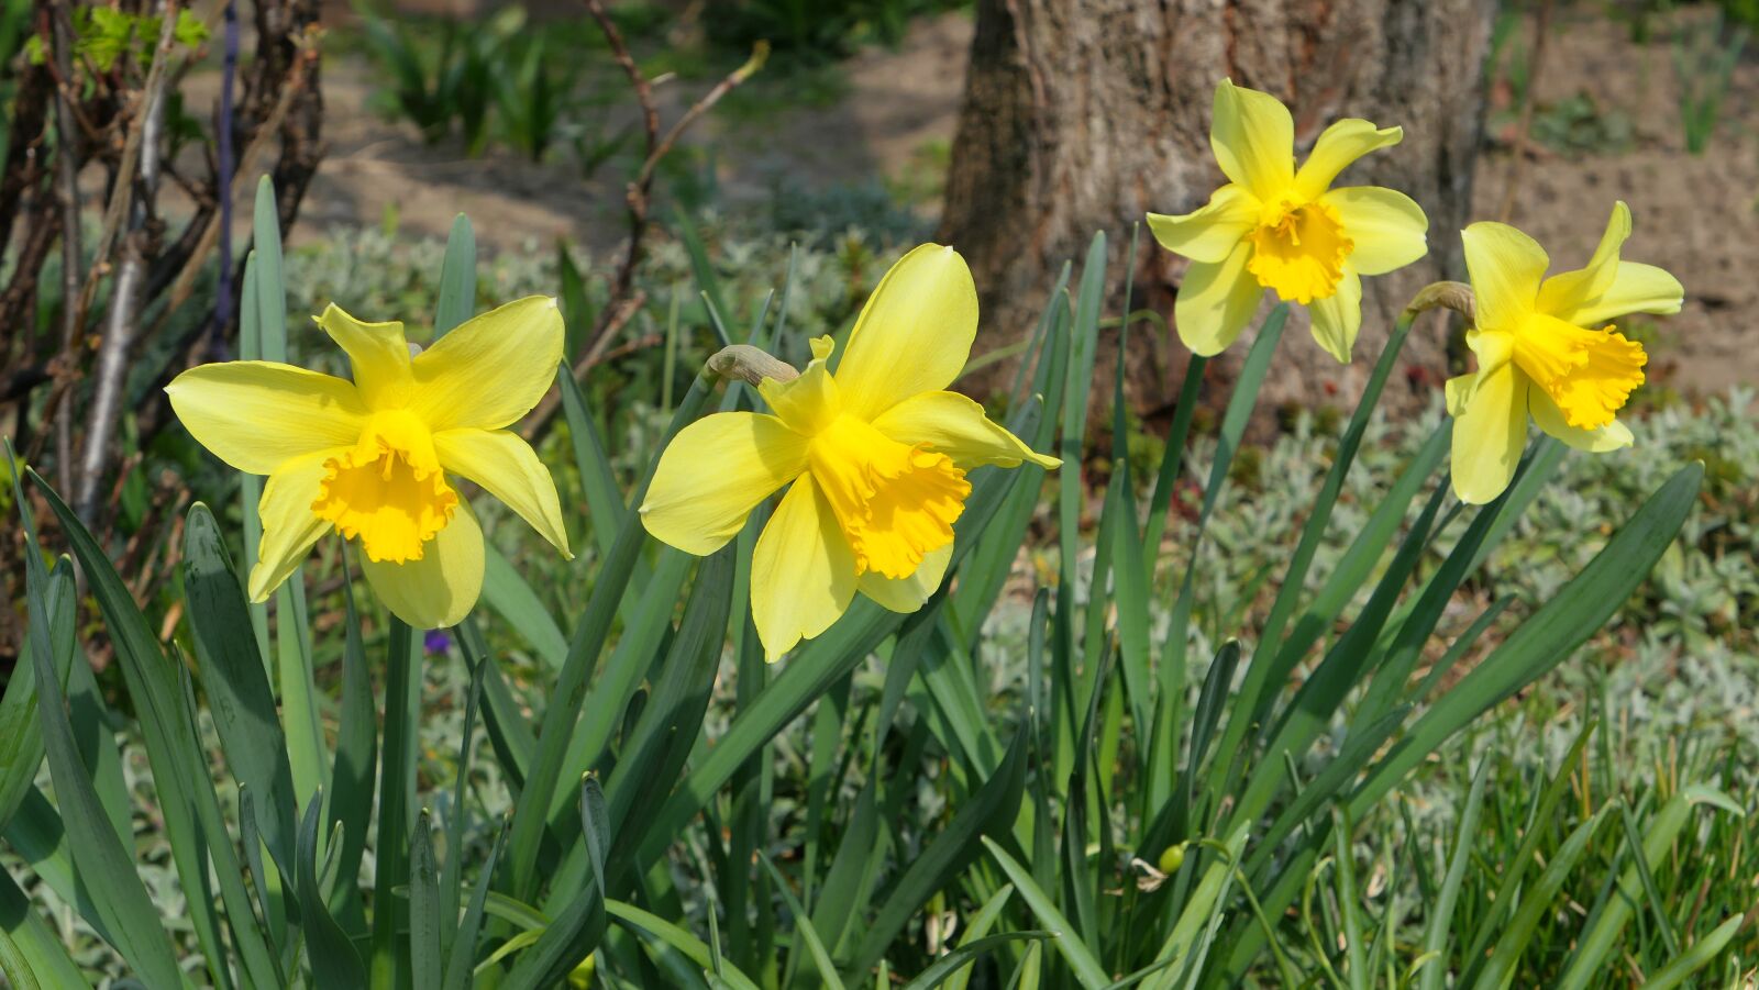
[[[1483,505],[1509,487],[1529,413],[1578,450],[1631,445],[1615,417],[1643,383],[1648,357],[1608,320],[1678,313],[1685,292],[1655,266],[1620,260],[1629,236],[1631,209],[1620,202],[1588,267],[1544,278],[1551,260],[1514,227],[1472,223],[1462,234],[1478,308],[1465,341],[1478,371],[1448,382],[1460,501]]]

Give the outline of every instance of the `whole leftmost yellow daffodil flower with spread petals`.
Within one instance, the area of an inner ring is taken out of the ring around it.
[[[359,540],[361,570],[394,615],[415,628],[459,622],[482,591],[482,529],[449,475],[482,485],[568,556],[556,484],[505,429],[556,380],[554,299],[508,302],[413,359],[403,324],[362,324],[332,304],[318,325],[348,353],[354,382],[229,360],[165,387],[202,447],[269,477],[253,601],[334,529]]]

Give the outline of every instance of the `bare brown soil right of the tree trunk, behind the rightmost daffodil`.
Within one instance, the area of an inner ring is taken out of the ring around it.
[[[1696,30],[1701,21],[1685,16],[1671,26]],[[1622,25],[1588,11],[1553,26],[1537,106],[1594,106],[1629,134],[1620,134],[1625,148],[1608,151],[1536,144],[1514,179],[1511,222],[1551,248],[1555,267],[1576,267],[1594,251],[1613,200],[1629,202],[1636,230],[1625,257],[1659,264],[1685,285],[1685,308],[1659,320],[1659,378],[1699,394],[1752,385],[1759,382],[1750,329],[1759,311],[1759,63],[1736,67],[1715,135],[1703,155],[1690,155],[1673,40],[1657,35],[1634,44]],[[1514,157],[1493,141],[1478,160],[1474,213],[1497,218],[1511,176]]]

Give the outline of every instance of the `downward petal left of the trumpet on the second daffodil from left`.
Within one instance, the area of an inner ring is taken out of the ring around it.
[[[855,598],[855,554],[811,475],[788,489],[751,552],[751,619],[770,663],[823,633]]]

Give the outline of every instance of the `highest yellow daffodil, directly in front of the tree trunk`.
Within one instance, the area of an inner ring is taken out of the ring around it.
[[[1386,274],[1428,250],[1428,218],[1379,186],[1332,188],[1351,162],[1398,144],[1404,130],[1340,120],[1295,167],[1295,123],[1270,93],[1215,86],[1210,148],[1228,185],[1203,209],[1149,215],[1163,248],[1191,258],[1173,306],[1179,338],[1201,355],[1240,336],[1268,288],[1307,306],[1314,339],[1339,362],[1361,329],[1361,276]]]

